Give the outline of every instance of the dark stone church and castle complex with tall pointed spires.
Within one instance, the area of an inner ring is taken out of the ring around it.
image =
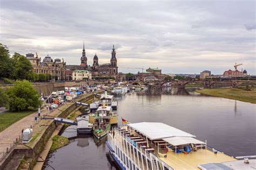
[[[110,63],[99,64],[99,58],[97,54],[95,54],[95,56],[93,56],[92,66],[88,65],[85,48],[83,46],[83,52],[80,58],[80,65],[67,65],[66,68],[69,71],[87,70],[91,72],[92,79],[106,78],[106,79],[115,79],[116,81],[125,80],[125,74],[118,73],[116,49],[114,49],[114,45],[111,51]]]

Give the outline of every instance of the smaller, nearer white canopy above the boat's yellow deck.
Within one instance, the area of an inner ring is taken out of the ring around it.
[[[173,146],[186,145],[186,144],[205,144],[203,141],[200,141],[191,137],[171,137],[171,138],[164,138],[163,140]]]

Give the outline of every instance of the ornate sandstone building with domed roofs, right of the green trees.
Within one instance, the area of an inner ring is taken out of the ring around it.
[[[41,58],[36,57],[32,53],[26,54],[26,58],[30,61],[35,73],[50,74],[52,79],[65,80],[66,62],[60,59],[52,60],[51,56],[47,55],[41,62]]]

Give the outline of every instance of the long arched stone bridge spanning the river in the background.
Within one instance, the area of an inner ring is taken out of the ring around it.
[[[212,88],[218,83],[229,85],[230,87],[238,87],[241,84],[255,84],[255,80],[200,80],[200,81],[186,81],[186,80],[178,80],[178,81],[154,81],[150,83],[145,83],[149,86],[165,86],[165,84],[171,84],[172,86],[177,86],[178,88],[185,88],[186,84],[189,83],[201,83],[203,84],[204,88]]]

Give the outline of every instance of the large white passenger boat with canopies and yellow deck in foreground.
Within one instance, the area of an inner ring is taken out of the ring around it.
[[[114,128],[106,144],[120,169],[244,169],[247,166],[243,160],[210,148],[206,141],[195,137],[164,123],[143,122]]]

